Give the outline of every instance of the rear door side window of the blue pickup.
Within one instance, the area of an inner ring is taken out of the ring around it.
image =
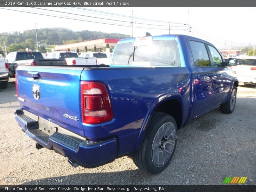
[[[196,67],[211,67],[210,59],[204,43],[189,41]]]

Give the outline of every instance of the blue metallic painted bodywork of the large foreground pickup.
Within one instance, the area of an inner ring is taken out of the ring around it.
[[[167,39],[177,39],[181,67],[110,66],[110,68],[84,69],[52,67],[50,70],[49,67],[40,66],[18,68],[18,91],[20,97],[25,99],[25,102],[20,101],[23,109],[37,116],[42,116],[89,140],[108,140],[104,148],[95,146],[90,149],[80,146],[79,153],[74,155],[71,149],[59,143],[49,141],[48,144],[45,144],[40,142],[26,130],[26,125],[16,117],[18,124],[25,129],[32,139],[44,147],[56,148],[64,156],[74,156],[73,160],[81,164],[92,164],[93,162],[112,160],[139,148],[154,111],[165,101],[178,100],[180,102],[182,108],[181,126],[219,105],[220,103],[214,102],[216,93],[217,95],[220,93],[221,102],[223,99],[226,101],[230,94],[230,86],[236,81],[233,76],[227,75],[225,70],[229,70],[228,68],[211,68],[213,73],[208,74],[209,79],[204,79],[205,82],[196,83],[197,76],[208,73],[209,69],[196,68],[193,63],[189,40],[210,43],[183,35],[153,37],[153,40]],[[133,42],[134,40],[135,38],[124,39],[118,44]],[[33,80],[27,71],[38,72],[41,80]],[[219,81],[215,77],[217,73],[221,73]],[[111,121],[93,125],[82,123],[80,81],[99,81],[107,85],[114,115]],[[33,84],[40,86],[41,98],[38,101],[33,98]],[[222,84],[223,87],[220,87]],[[217,92],[216,87],[217,89],[220,87]],[[222,94],[223,91],[226,93]],[[206,97],[209,100],[206,100]],[[202,108],[201,105],[207,108]],[[196,114],[193,115],[196,110]],[[64,113],[77,116],[79,121],[76,122],[63,117]],[[87,156],[90,156],[90,160],[84,162],[84,158]]]

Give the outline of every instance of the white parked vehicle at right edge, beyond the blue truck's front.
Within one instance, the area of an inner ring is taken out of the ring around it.
[[[228,66],[237,73],[239,82],[256,85],[256,57],[232,57]]]

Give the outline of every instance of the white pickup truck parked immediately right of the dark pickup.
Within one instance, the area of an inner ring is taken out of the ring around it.
[[[66,59],[67,65],[97,65],[97,59],[79,58],[75,51],[56,51],[46,56],[46,59]]]

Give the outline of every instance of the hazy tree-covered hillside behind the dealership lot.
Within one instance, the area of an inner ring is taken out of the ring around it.
[[[41,28],[37,29],[38,43],[41,45],[39,51],[45,51],[45,45],[63,45],[82,41],[118,38],[123,39],[129,35],[119,33],[103,33],[100,31],[72,31],[67,28]],[[15,31],[12,33],[0,33],[0,51],[6,45],[7,52],[24,51],[26,48],[36,50],[36,30]],[[43,46],[44,45],[44,46]]]

